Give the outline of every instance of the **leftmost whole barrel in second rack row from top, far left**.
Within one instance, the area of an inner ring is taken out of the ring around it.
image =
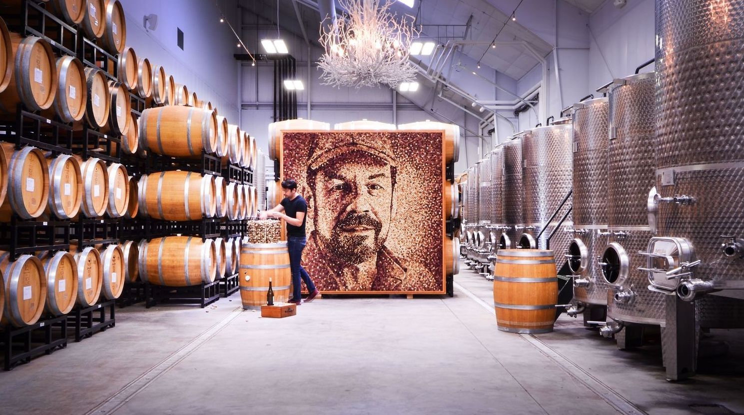
[[[10,33],[13,73],[0,93],[0,111],[15,113],[22,103],[31,111],[51,107],[57,95],[57,63],[47,41]]]

